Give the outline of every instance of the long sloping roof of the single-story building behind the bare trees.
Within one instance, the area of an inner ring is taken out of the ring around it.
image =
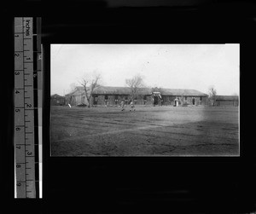
[[[151,95],[151,88],[141,88],[139,90],[141,95]],[[195,95],[195,96],[207,96],[198,90],[182,90],[182,89],[160,89],[161,95]],[[129,95],[131,90],[129,87],[113,87],[113,86],[100,86],[96,88],[93,94],[95,95]],[[84,87],[78,86],[73,93],[67,95],[83,95]]]

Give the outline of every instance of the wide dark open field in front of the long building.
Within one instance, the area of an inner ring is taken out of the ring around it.
[[[238,124],[238,107],[51,107],[51,155],[239,155]]]

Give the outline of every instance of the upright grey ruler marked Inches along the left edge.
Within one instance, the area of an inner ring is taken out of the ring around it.
[[[40,196],[42,176],[42,173],[39,173],[42,169],[40,29],[40,18],[15,17],[15,198]]]

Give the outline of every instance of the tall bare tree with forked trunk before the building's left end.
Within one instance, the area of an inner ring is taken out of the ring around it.
[[[79,81],[79,84],[84,87],[84,93],[86,100],[88,101],[88,107],[90,107],[90,98],[93,92],[100,86],[101,79],[101,74],[95,72],[92,74],[84,74],[84,76]]]

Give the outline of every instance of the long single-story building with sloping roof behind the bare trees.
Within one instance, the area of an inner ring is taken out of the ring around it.
[[[82,86],[67,95],[66,103],[72,106],[88,105]],[[198,90],[178,90],[161,88],[141,88],[134,99],[135,105],[207,105],[208,95]],[[129,104],[131,89],[129,87],[100,86],[94,90],[90,105],[119,106],[121,101]]]

